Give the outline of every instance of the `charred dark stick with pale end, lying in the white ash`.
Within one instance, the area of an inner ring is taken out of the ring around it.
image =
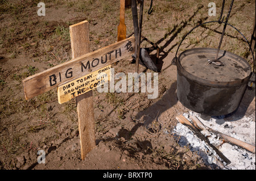
[[[228,165],[230,162],[230,160],[228,158],[225,157],[224,154],[221,153],[220,150],[218,150],[214,145],[212,145],[210,143],[210,141],[208,140],[208,138],[206,138],[204,136],[204,134],[202,134],[192,123],[190,123],[189,120],[187,120],[183,115],[179,115],[176,117],[176,119],[178,121],[180,121],[181,124],[183,125],[187,125],[188,128],[191,129],[191,131],[193,133],[195,133],[201,140],[207,142],[207,144],[212,147],[212,149],[216,152],[216,154],[218,154],[219,158],[221,159],[221,163],[224,164],[224,165]]]

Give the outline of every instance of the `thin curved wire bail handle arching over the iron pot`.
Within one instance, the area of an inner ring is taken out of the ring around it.
[[[188,36],[188,34],[191,33],[193,30],[195,30],[197,27],[200,27],[200,26],[202,26],[202,25],[204,25],[204,24],[207,24],[207,23],[224,23],[224,24],[227,24],[227,25],[231,26],[232,28],[234,28],[236,31],[238,31],[238,32],[242,35],[243,39],[245,39],[246,43],[249,45],[251,54],[253,54],[253,50],[252,50],[251,47],[250,47],[249,41],[246,39],[246,37],[245,37],[239,30],[237,30],[236,27],[232,26],[232,25],[229,24],[229,23],[220,22],[220,21],[218,20],[218,21],[205,22],[205,23],[199,24],[199,25],[197,25],[196,27],[192,28],[192,30],[190,30],[190,31],[187,33],[187,35],[185,35],[185,36],[183,37],[183,39],[181,40],[181,42],[180,42],[180,44],[179,44],[179,47],[178,47],[177,50],[176,50],[175,57],[172,59],[172,64],[176,65],[176,61],[177,61],[177,52],[178,52],[178,50],[179,50],[179,48],[180,48],[181,43],[182,43],[183,40]],[[253,54],[253,74],[255,74],[255,58],[254,58],[254,54]]]

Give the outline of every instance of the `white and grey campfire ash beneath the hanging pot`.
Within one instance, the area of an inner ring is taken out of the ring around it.
[[[233,138],[237,138],[243,142],[255,146],[255,113],[251,116],[243,116],[241,119],[233,119],[226,121],[224,117],[210,117],[204,120],[199,113],[190,111],[184,113],[184,117],[191,121],[191,116],[196,116],[206,127],[215,131],[227,134]],[[179,137],[178,143],[180,146],[189,146],[192,151],[196,151],[207,165],[213,169],[228,169],[228,170],[252,170],[255,169],[255,153],[251,153],[246,149],[236,145],[229,144],[217,137],[212,132],[201,131],[210,144],[215,146],[231,163],[222,164],[218,158],[218,154],[207,144],[201,140],[191,129],[186,125],[177,123],[174,128],[174,133]]]

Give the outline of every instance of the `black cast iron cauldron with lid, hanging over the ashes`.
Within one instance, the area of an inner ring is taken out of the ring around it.
[[[251,67],[247,61],[228,51],[220,50],[218,53],[218,60],[224,66],[207,65],[216,53],[217,49],[214,48],[195,48],[185,50],[174,58],[177,66],[177,98],[190,110],[210,116],[235,111],[251,77]]]

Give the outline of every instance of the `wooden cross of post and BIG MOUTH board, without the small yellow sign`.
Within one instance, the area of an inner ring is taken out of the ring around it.
[[[60,86],[134,54],[134,37],[90,52],[89,22],[74,24],[69,30],[72,60],[24,79],[23,89],[26,99],[34,98],[56,87],[60,89]],[[96,146],[92,95],[92,91],[89,91],[76,97],[82,160]]]

